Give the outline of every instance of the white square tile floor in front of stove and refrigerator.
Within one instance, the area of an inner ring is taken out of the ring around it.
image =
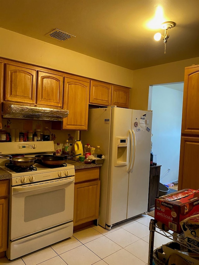
[[[146,265],[149,248],[149,222],[141,215],[113,226],[88,226],[75,231],[67,240],[50,245],[21,258],[0,258],[0,265]],[[170,240],[155,233],[154,249]]]

